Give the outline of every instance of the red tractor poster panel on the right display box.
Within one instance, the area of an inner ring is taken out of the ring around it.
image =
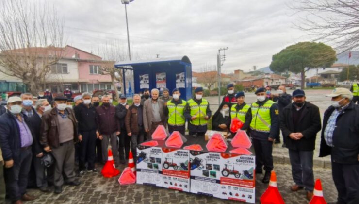
[[[221,198],[255,203],[255,156],[221,153]]]

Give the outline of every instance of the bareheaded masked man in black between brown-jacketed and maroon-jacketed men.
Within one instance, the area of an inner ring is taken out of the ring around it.
[[[79,130],[79,172],[97,172],[95,168],[96,160],[96,139],[99,136],[96,123],[96,108],[91,104],[91,94],[82,93],[82,103],[75,106],[75,117],[78,121]]]

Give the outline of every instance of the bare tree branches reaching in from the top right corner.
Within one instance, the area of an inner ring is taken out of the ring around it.
[[[359,48],[359,0],[294,0],[300,30],[341,52]]]

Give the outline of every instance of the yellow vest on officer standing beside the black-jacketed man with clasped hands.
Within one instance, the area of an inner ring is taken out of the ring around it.
[[[270,108],[275,102],[268,100],[262,106],[259,106],[257,102],[251,104],[252,121],[250,123],[250,129],[269,133],[271,130],[271,113]]]

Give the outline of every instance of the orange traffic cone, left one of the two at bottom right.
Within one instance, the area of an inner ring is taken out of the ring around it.
[[[261,204],[285,204],[277,188],[276,172],[272,170],[268,188],[261,196]]]

